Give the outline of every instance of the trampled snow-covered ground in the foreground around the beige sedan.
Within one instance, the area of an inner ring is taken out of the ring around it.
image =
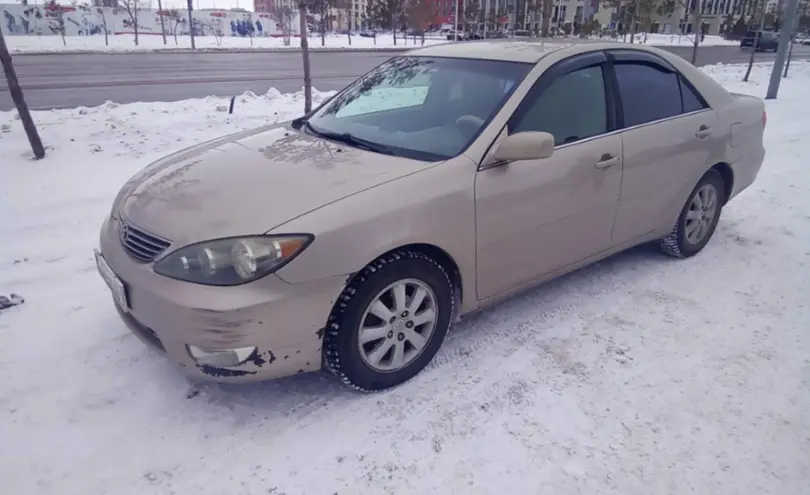
[[[762,96],[768,67],[705,68]],[[321,97],[322,95],[318,95]],[[156,157],[286,119],[300,95],[0,113],[0,493],[807,494],[810,64],[766,163],[690,260],[614,256],[454,327],[411,382],[190,384],[118,320],[92,249]]]

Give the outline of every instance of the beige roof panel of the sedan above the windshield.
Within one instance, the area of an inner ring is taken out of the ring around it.
[[[546,41],[543,39],[517,40],[485,40],[464,41],[459,43],[442,43],[438,45],[417,48],[408,52],[408,55],[420,57],[448,57],[468,58],[478,60],[503,60],[507,62],[523,62],[536,64],[550,53],[562,51],[559,55],[575,55],[590,51],[610,49],[637,49],[647,52],[661,53],[661,50],[645,45],[619,42],[598,42],[577,40],[574,42]],[[565,53],[567,52],[567,53]]]

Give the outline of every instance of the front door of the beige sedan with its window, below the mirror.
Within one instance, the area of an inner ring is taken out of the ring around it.
[[[478,296],[485,299],[611,247],[621,189],[622,141],[605,96],[604,67],[544,80],[507,126],[544,131],[554,155],[478,172]]]

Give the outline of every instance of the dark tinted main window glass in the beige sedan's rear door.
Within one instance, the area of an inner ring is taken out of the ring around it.
[[[622,101],[624,127],[646,124],[683,113],[681,85],[677,73],[639,63],[620,63],[615,69]]]

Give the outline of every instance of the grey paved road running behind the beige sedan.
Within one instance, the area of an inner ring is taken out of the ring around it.
[[[690,47],[666,47],[689,58]],[[391,52],[313,52],[316,88],[340,89],[390,58]],[[810,47],[794,49],[796,59],[810,59]],[[757,54],[772,61],[774,54]],[[735,46],[701,47],[698,65],[745,63],[748,53]],[[301,89],[301,54],[291,52],[192,52],[15,55],[14,65],[31,108],[100,105],[107,100],[176,101],[244,91],[264,93]],[[5,80],[0,83],[0,110],[13,108]]]

